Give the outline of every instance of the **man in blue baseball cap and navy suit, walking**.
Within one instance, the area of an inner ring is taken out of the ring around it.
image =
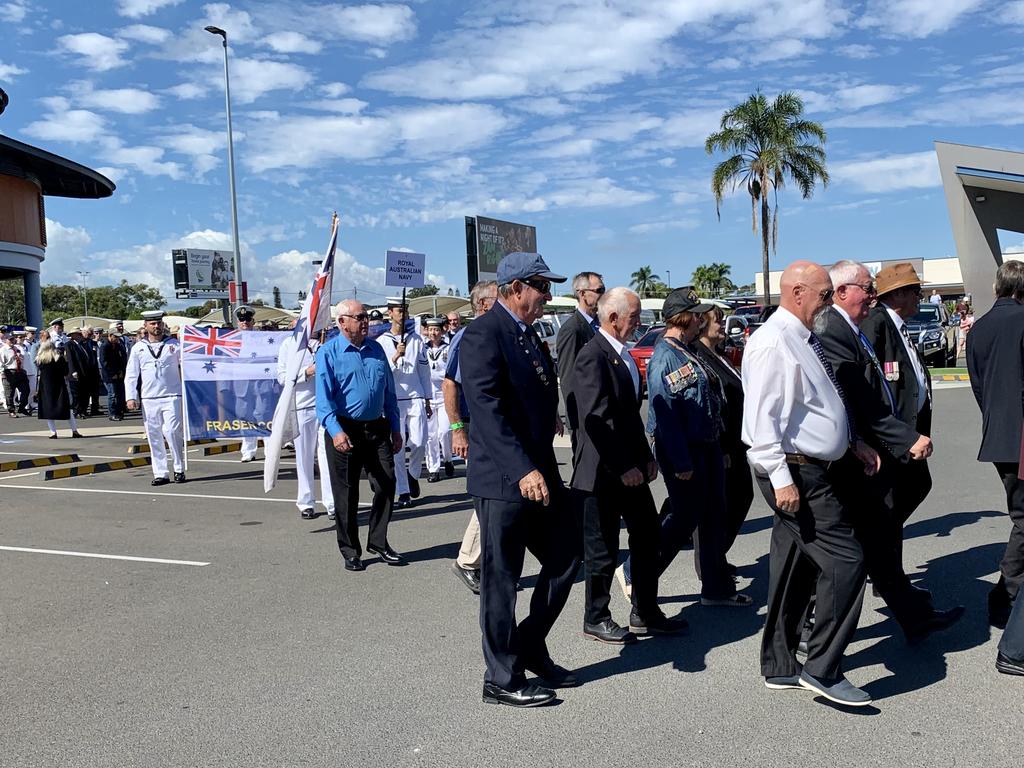
[[[545,638],[565,605],[580,565],[580,532],[553,446],[558,386],[532,323],[565,281],[537,253],[498,265],[497,305],[462,343],[462,386],[472,417],[467,489],[480,519],[483,701],[537,707],[554,691],[527,684],[525,670],[552,687],[579,685],[556,665]],[[516,583],[525,551],[541,561],[529,615],[516,626]]]

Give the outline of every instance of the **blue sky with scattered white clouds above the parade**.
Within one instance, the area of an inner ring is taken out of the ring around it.
[[[933,141],[1024,148],[1024,0],[0,0],[0,130],[118,184],[48,199],[44,283],[173,297],[171,248],[230,248],[209,24],[231,41],[243,270],[286,304],[333,210],[336,300],[387,293],[389,248],[464,290],[473,214],[536,225],[554,269],[608,285],[712,261],[753,282],[749,198],[716,218],[702,145],[758,87],[828,132],[833,183],[783,193],[778,264],[952,255]]]

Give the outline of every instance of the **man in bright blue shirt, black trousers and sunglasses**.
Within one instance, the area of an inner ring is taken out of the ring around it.
[[[316,351],[316,419],[325,440],[338,549],[346,570],[362,570],[359,546],[359,474],[374,493],[367,551],[388,565],[404,565],[387,541],[394,504],[394,455],[401,450],[394,377],[381,345],[367,338],[370,316],[362,304],[338,304],[338,336]]]

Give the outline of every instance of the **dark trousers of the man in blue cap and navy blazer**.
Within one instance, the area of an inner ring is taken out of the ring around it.
[[[580,526],[568,494],[549,485],[551,501],[476,499],[480,518],[480,632],[484,682],[508,690],[526,683],[530,660],[550,658],[546,638],[565,606],[580,567]],[[541,561],[529,614],[516,624],[516,583],[529,550]]]

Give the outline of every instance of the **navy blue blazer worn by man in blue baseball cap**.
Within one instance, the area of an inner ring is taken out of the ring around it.
[[[463,335],[459,361],[471,417],[471,496],[524,501],[519,480],[535,469],[549,489],[562,485],[553,445],[558,381],[550,355],[536,334],[534,339],[536,345],[497,304]]]

